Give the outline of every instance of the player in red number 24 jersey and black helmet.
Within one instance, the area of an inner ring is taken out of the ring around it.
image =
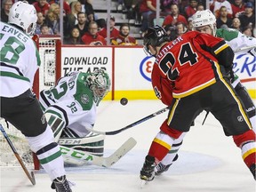
[[[210,111],[218,119],[226,136],[233,136],[255,179],[256,136],[227,77],[234,58],[228,44],[218,37],[196,31],[170,42],[164,28],[156,26],[148,28],[144,49],[156,57],[152,71],[156,96],[171,105],[148,150],[140,179],[154,179],[156,164],[174,147],[176,140],[184,137],[203,110]]]

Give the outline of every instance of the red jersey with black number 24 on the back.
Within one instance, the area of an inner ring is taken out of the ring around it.
[[[220,65],[230,68],[233,58],[231,48],[219,37],[197,31],[179,36],[156,55],[151,74],[156,96],[170,105],[172,97],[198,92],[222,78]]]

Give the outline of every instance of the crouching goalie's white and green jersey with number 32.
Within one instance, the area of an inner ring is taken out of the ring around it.
[[[96,119],[96,103],[92,91],[85,84],[89,74],[72,72],[70,76],[60,78],[55,87],[40,92],[40,103],[45,113],[59,116],[65,127],[80,137],[87,134],[86,128],[92,128]]]

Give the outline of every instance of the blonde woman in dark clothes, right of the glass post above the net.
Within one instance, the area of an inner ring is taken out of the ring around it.
[[[67,15],[67,22],[65,26],[66,31],[68,31],[68,33],[71,31],[71,28],[74,28],[78,24],[78,12],[82,12],[82,5],[78,1],[73,1],[71,3],[71,12]]]

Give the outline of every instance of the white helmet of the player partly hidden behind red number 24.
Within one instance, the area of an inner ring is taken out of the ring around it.
[[[212,28],[212,35],[215,36],[216,34],[216,17],[214,14],[206,9],[203,11],[197,11],[192,16],[192,25],[193,30],[196,30],[196,28],[204,27],[204,26],[210,26]]]

